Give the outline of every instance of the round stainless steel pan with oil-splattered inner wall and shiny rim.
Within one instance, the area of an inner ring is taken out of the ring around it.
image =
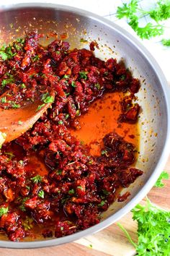
[[[132,35],[104,18],[54,4],[17,4],[0,9],[0,44],[24,35],[25,30],[39,33],[55,30],[67,33],[72,47],[88,47],[80,39],[97,40],[100,58],[123,58],[133,75],[141,81],[138,101],[140,114],[140,155],[137,168],[144,174],[128,188],[131,196],[125,202],[115,202],[103,214],[101,223],[70,236],[35,242],[0,241],[0,247],[35,248],[63,244],[99,231],[130,211],[153,187],[164,168],[170,145],[169,88],[161,68],[151,54]]]

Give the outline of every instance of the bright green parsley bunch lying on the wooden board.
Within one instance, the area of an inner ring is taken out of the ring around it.
[[[133,220],[138,222],[138,243],[135,244],[120,223],[139,256],[169,255],[170,252],[170,211],[162,210],[146,200],[146,205],[136,205]]]

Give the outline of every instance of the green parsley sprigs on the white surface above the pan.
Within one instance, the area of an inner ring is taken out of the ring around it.
[[[154,23],[148,22],[145,27],[140,27],[139,20],[144,15],[149,15]],[[170,17],[170,1],[159,0],[156,4],[156,8],[145,11],[138,8],[138,0],[132,0],[129,4],[124,3],[122,7],[117,8],[117,18],[122,19],[123,17],[128,19],[128,24],[142,39],[163,35],[164,25],[159,22],[167,20]],[[169,40],[162,40],[161,42],[164,46],[170,46]]]

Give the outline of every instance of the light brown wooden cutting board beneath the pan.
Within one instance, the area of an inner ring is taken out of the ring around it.
[[[170,175],[170,156],[164,170]],[[170,179],[164,181],[163,188],[153,187],[148,193],[148,197],[152,202],[162,208],[170,210]],[[143,200],[144,201],[144,200]],[[136,229],[137,225],[128,213],[120,220],[120,223],[128,230],[130,236],[137,241]],[[112,224],[107,229],[99,231],[97,234],[86,236],[76,242],[60,245],[58,247],[48,247],[42,249],[0,249],[2,256],[133,256],[135,249],[128,242],[125,234],[120,230],[117,224]]]

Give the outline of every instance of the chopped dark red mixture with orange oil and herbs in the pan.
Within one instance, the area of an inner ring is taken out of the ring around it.
[[[61,237],[99,223],[143,174],[135,102],[139,81],[116,59],[30,33],[2,48],[1,108],[41,97],[51,108],[0,153],[0,231],[12,241]],[[5,94],[5,98],[4,95]],[[38,111],[38,109],[37,109]],[[19,120],[19,125],[21,125]]]

